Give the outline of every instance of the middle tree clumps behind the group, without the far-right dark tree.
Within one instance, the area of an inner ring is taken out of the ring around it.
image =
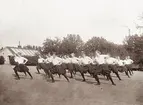
[[[125,58],[128,55],[123,45],[114,44],[102,37],[92,37],[87,42],[83,42],[79,35],[68,34],[63,39],[55,37],[47,38],[43,43],[42,53],[48,54],[56,52],[59,55],[69,55],[75,53],[77,56],[84,51],[88,56],[94,56],[96,51],[102,54],[110,54],[113,57],[120,56]]]

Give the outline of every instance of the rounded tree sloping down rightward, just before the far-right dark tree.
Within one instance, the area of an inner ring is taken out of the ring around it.
[[[102,37],[92,37],[85,43],[84,51],[87,55],[94,55],[97,50],[113,57],[120,56],[122,59],[127,56],[127,51],[123,45],[114,44]]]

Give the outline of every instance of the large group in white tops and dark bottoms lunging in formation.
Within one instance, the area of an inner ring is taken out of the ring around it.
[[[95,57],[88,57],[84,53],[80,57],[75,57],[72,53],[70,56],[58,57],[55,54],[52,56],[49,54],[44,58],[42,55],[39,55],[37,71],[40,73],[40,69],[43,69],[47,76],[52,78],[54,82],[53,74],[63,75],[67,81],[69,81],[66,71],[68,70],[73,78],[73,74],[79,72],[85,81],[85,73],[89,73],[92,77],[95,78],[97,84],[100,85],[98,75],[104,75],[109,79],[113,85],[115,85],[111,72],[115,73],[116,76],[121,80],[119,72],[125,72],[129,76],[133,74],[131,69],[133,60],[130,57],[127,57],[125,60],[121,60],[119,57],[113,58],[108,54],[103,55],[98,51],[96,52]]]

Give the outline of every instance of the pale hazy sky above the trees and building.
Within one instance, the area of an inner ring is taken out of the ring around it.
[[[139,33],[142,0],[0,0],[0,46],[42,45],[46,38],[79,34],[122,44]]]

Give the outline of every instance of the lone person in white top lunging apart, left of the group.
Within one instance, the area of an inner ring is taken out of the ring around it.
[[[28,59],[21,56],[21,53],[18,53],[14,57],[14,61],[16,62],[16,66],[13,68],[16,76],[18,79],[20,79],[18,72],[24,72],[26,75],[26,72],[30,75],[31,79],[33,79],[31,73],[29,72],[28,67],[25,65]]]

